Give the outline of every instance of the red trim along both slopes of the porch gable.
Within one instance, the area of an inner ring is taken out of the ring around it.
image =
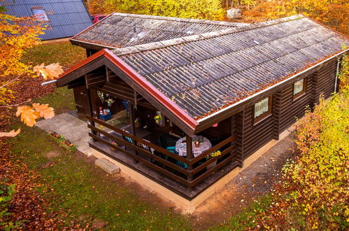
[[[169,109],[169,111],[171,111],[175,116],[180,118],[192,130],[195,130],[197,125],[199,125],[199,123],[197,123],[197,121],[194,120],[194,118],[190,117],[187,113],[185,113],[183,109],[180,109],[180,107],[177,106],[173,101],[171,101],[171,99],[166,97],[164,94],[162,94],[162,92],[157,90],[157,88],[148,83],[148,81],[145,80],[145,78],[143,78],[142,76],[140,76],[136,71],[134,71],[134,69],[132,69],[131,66],[127,65],[124,61],[122,61],[122,59],[120,59],[120,57],[115,56],[108,49],[99,50],[99,52],[95,53],[94,55],[91,55],[90,57],[87,57],[87,59],[79,62],[78,64],[71,66],[71,68],[64,71],[64,73],[62,73],[62,75],[59,78],[62,78],[63,76],[66,76],[67,74],[76,71],[76,69],[79,69],[81,66],[85,66],[85,64],[92,62],[92,60],[97,59],[102,55],[109,59],[111,62],[113,62],[113,64],[115,64],[115,66],[117,66],[121,71],[126,73],[127,76],[129,76],[129,78],[131,78],[138,85],[147,90],[147,92],[149,92],[149,94],[151,94],[152,97],[155,97],[157,101],[166,106],[166,108]]]

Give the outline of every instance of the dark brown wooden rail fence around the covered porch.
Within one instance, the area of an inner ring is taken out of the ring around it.
[[[213,172],[217,171],[218,169],[226,165],[228,162],[234,160],[234,155],[232,155],[232,141],[234,140],[234,136],[228,137],[224,141],[220,142],[220,144],[213,146],[212,148],[208,149],[208,151],[205,151],[204,153],[198,155],[196,158],[188,160],[187,158],[183,158],[180,155],[176,155],[175,153],[171,153],[170,151],[162,147],[152,144],[149,141],[146,141],[145,139],[135,137],[133,134],[130,134],[129,132],[113,127],[112,125],[109,125],[108,123],[105,123],[102,120],[92,118],[91,116],[87,116],[87,119],[91,121],[91,124],[87,126],[91,129],[89,135],[90,137],[92,137],[92,139],[94,139],[94,141],[99,141],[103,144],[106,144],[107,146],[110,146],[111,148],[115,149],[115,151],[124,153],[125,155],[128,155],[130,158],[138,162],[142,162],[144,165],[150,167],[151,169],[154,169],[155,171],[160,172],[173,180],[179,181],[180,183],[183,183],[185,186],[188,186],[189,188],[194,187],[195,185],[197,185],[197,183],[206,179]],[[94,126],[94,123],[98,123],[99,125],[102,125],[110,130],[113,130],[114,132],[117,132],[118,134],[120,134],[120,137],[99,129],[98,127]],[[100,136],[100,134],[104,135],[104,137],[108,138],[108,140],[114,141],[118,145],[112,144],[111,141],[103,139]],[[124,146],[125,148],[122,148],[122,146]],[[222,150],[220,155],[214,156],[213,158],[210,158],[205,162],[201,161],[204,158],[206,158],[206,156],[210,155],[211,153],[214,153],[215,151],[218,151],[220,148],[223,148],[224,146],[228,147],[225,148],[225,150]],[[128,151],[127,149],[131,149],[134,152]],[[143,156],[146,156],[147,158],[150,158],[151,161],[142,158],[140,155],[138,155],[139,153]],[[224,159],[226,155],[228,156]],[[164,156],[167,156],[169,158],[164,158]],[[211,169],[205,171],[208,165],[220,158],[223,159],[222,162],[218,163],[218,165],[215,165]],[[187,169],[176,165],[176,163],[174,163],[173,160],[178,160],[179,162],[185,163],[188,166]],[[160,165],[156,165],[154,163],[155,161],[158,162]],[[175,171],[180,172],[180,174],[175,174]]]

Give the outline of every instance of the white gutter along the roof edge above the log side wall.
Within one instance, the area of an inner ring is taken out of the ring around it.
[[[266,92],[266,91],[268,91],[268,90],[271,90],[271,89],[273,89],[274,87],[277,87],[278,85],[281,85],[281,84],[283,84],[283,83],[285,83],[285,82],[287,82],[287,81],[289,81],[289,80],[292,80],[292,79],[294,79],[294,78],[297,78],[297,77],[300,76],[302,73],[305,73],[305,72],[307,72],[307,71],[309,71],[309,70],[311,70],[311,69],[314,69],[316,66],[320,66],[320,65],[323,64],[324,62],[327,62],[329,59],[333,59],[334,57],[337,57],[337,56],[339,56],[339,55],[342,55],[343,53],[347,52],[348,50],[349,50],[349,48],[346,49],[346,50],[343,50],[343,51],[339,52],[338,54],[336,54],[336,55],[334,55],[334,56],[332,56],[332,57],[329,57],[329,58],[323,60],[322,62],[319,62],[318,64],[315,64],[314,66],[309,67],[308,69],[305,69],[304,71],[301,71],[301,72],[295,74],[294,76],[291,76],[290,78],[286,78],[285,80],[282,80],[282,81],[280,81],[279,83],[276,83],[275,85],[272,85],[272,86],[270,86],[270,87],[268,87],[268,88],[266,88],[266,89],[264,89],[264,90],[262,90],[262,91],[260,91],[260,92],[257,92],[256,94],[252,94],[252,95],[250,95],[249,97],[246,97],[245,99],[242,99],[241,101],[236,102],[235,104],[229,105],[229,106],[227,106],[226,108],[224,108],[224,109],[222,109],[222,110],[220,110],[220,111],[216,111],[215,113],[212,113],[212,114],[209,115],[209,116],[206,116],[206,117],[204,117],[204,118],[201,118],[201,119],[197,120],[197,122],[198,122],[198,123],[201,123],[201,122],[203,122],[204,120],[207,120],[207,119],[209,119],[209,118],[211,118],[211,117],[213,117],[213,116],[217,116],[218,114],[227,111],[228,109],[232,109],[232,108],[235,107],[235,106],[238,106],[238,105],[240,105],[240,104],[243,104],[243,102],[245,102],[245,101],[247,101],[247,100],[249,100],[249,99],[252,99],[252,98],[254,98],[254,97],[257,97],[259,94],[262,94],[262,93],[264,93],[264,92]]]

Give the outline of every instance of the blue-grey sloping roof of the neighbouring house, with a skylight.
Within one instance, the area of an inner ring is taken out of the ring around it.
[[[36,15],[48,29],[42,40],[71,37],[92,25],[83,0],[5,0],[6,13],[16,17]]]

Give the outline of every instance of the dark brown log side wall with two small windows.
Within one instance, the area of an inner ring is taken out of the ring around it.
[[[253,106],[248,107],[233,116],[233,132],[236,135],[236,161],[241,162],[255,153],[259,148],[272,139],[278,140],[279,134],[296,123],[296,118],[302,118],[306,106],[317,104],[320,94],[325,99],[334,92],[336,79],[337,59],[322,64],[320,69],[305,73],[301,78],[306,78],[306,92],[295,98],[293,84],[280,89],[273,94],[271,116],[257,124],[253,122]]]

